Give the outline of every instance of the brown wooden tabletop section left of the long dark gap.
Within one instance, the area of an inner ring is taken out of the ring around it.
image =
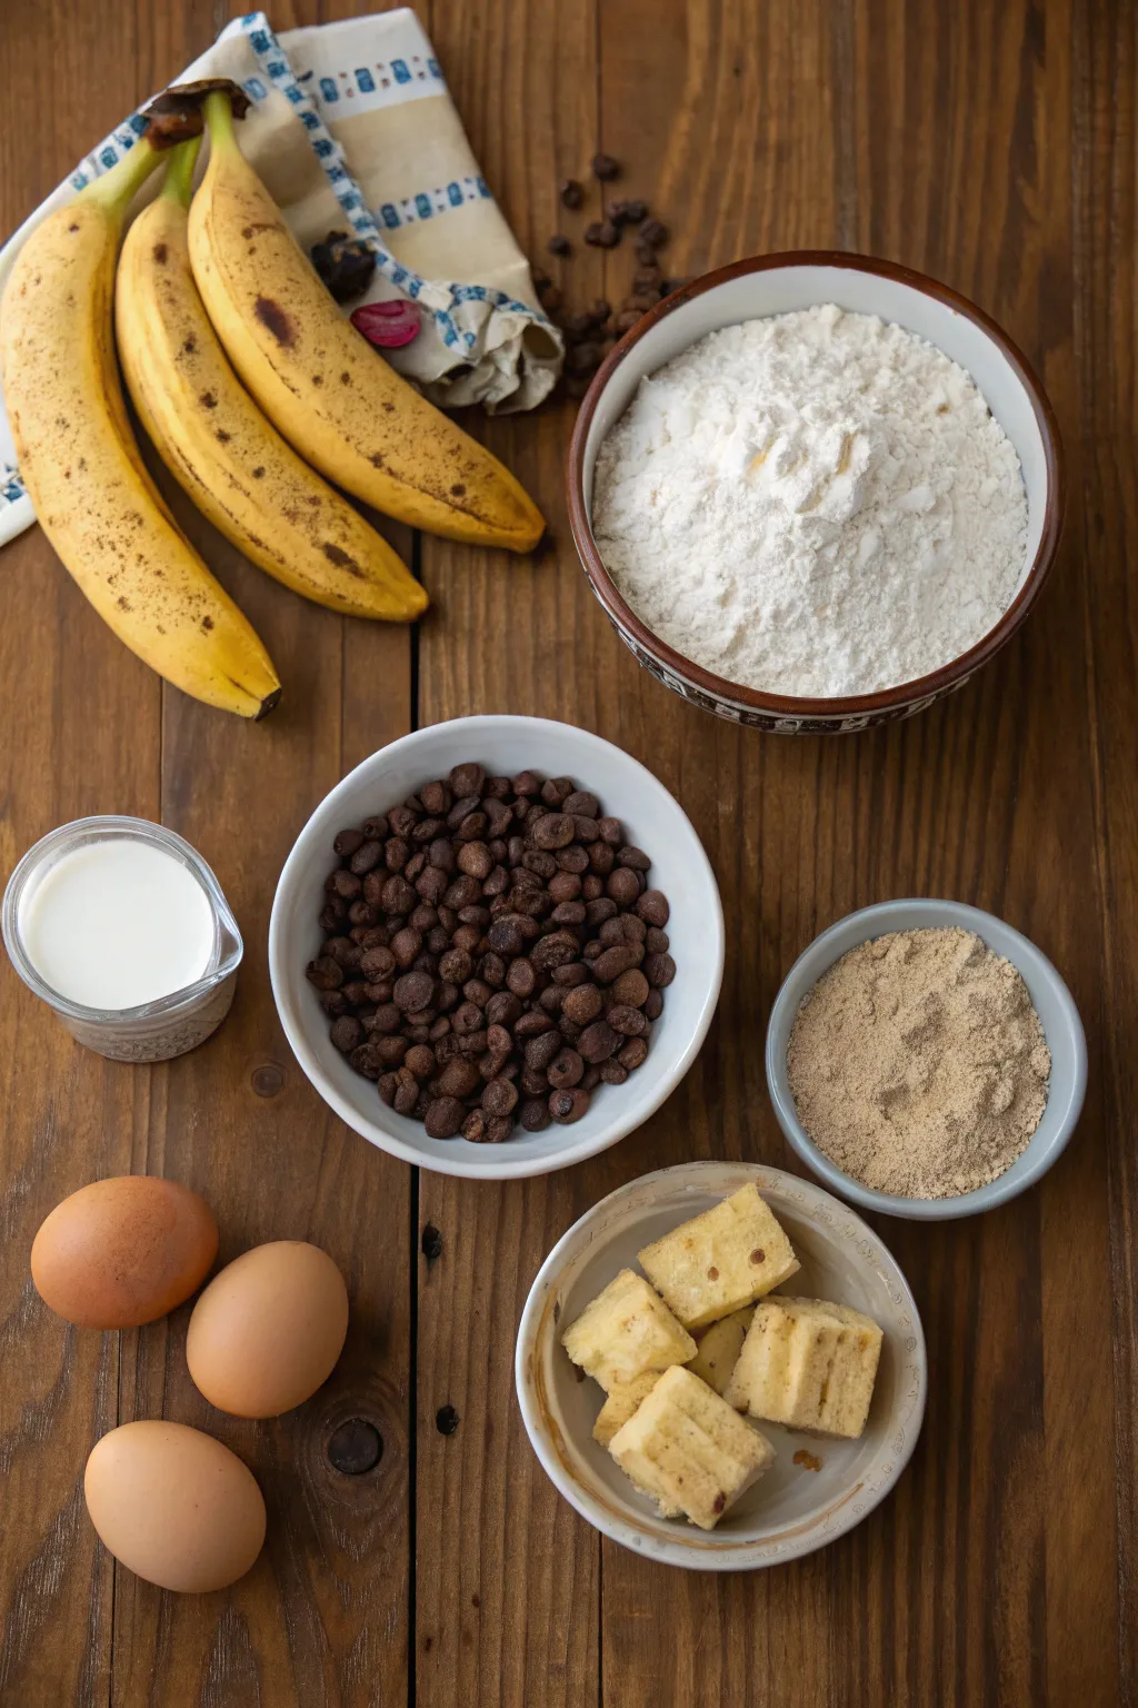
[[[125,61],[133,84],[102,85],[106,114],[87,104],[82,140],[68,128],[49,183],[201,51],[213,27],[208,7],[143,17]],[[44,75],[55,73],[49,46],[44,29],[34,43]],[[84,70],[90,75],[92,65]],[[20,79],[27,82],[26,67],[19,79],[12,68],[12,82]],[[39,116],[22,121],[29,147],[43,147],[46,109],[39,101]],[[26,186],[29,178],[24,171],[9,181]],[[12,208],[9,224],[22,212]],[[7,1694],[10,1686],[24,1691],[22,1701],[46,1701],[73,1676],[75,1701],[97,1694],[154,1703],[155,1688],[169,1705],[396,1701],[406,1694],[408,1669],[413,1182],[334,1120],[292,1061],[268,986],[266,933],[276,873],[312,806],[343,770],[409,728],[409,635],[343,622],[275,586],[160,478],[179,519],[264,637],[285,699],[273,719],[249,726],[174,690],[164,693],[94,620],[41,536],[5,555],[14,577],[5,598],[19,601],[3,625],[5,680],[17,681],[36,664],[58,678],[49,687],[49,721],[39,707],[27,729],[14,719],[10,753],[20,769],[9,787],[26,804],[5,827],[12,839],[9,847],[5,837],[5,854],[82,810],[160,816],[213,864],[242,926],[246,960],[222,1032],[154,1069],[102,1064],[55,1035],[44,1049],[43,1018],[26,1013],[34,1009],[31,997],[10,1008],[22,1056],[19,1079],[3,1086],[14,1110],[9,1134],[26,1126],[34,1141],[46,1120],[67,1144],[46,1156],[27,1144],[27,1158],[20,1143],[7,1144],[14,1243],[3,1279],[14,1291],[10,1300],[5,1291],[5,1320],[12,1358],[29,1375],[7,1387],[10,1401],[0,1404],[17,1406],[15,1419],[3,1423],[14,1469],[20,1455],[34,1459],[31,1476],[19,1477],[19,1506],[10,1503],[14,1524],[0,1544],[12,1549],[10,1559],[0,1556],[9,1628],[0,1698],[17,1699]],[[406,531],[396,543],[409,555]],[[36,598],[44,577],[51,601]],[[84,668],[63,673],[80,623]],[[31,693],[26,700],[32,704]],[[90,704],[99,705],[94,728]],[[46,818],[29,823],[29,813]],[[7,977],[15,984],[10,970]],[[96,1173],[128,1170],[201,1190],[222,1226],[222,1261],[282,1237],[311,1238],[336,1259],[351,1295],[348,1346],[305,1407],[264,1424],[212,1411],[184,1368],[188,1307],[121,1337],[78,1336],[48,1320],[26,1276],[31,1231],[65,1190]],[[234,1590],[165,1595],[97,1549],[82,1506],[82,1464],[106,1428],[136,1416],[206,1428],[258,1476],[270,1508],[268,1546]],[[350,1418],[374,1423],[384,1442],[379,1465],[358,1477],[334,1471],[326,1454],[333,1430]]]

